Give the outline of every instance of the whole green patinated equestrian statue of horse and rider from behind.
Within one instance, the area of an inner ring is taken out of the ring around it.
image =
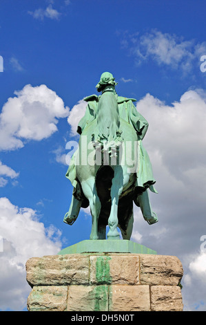
[[[90,95],[77,132],[79,147],[72,156],[66,177],[74,190],[70,210],[63,221],[72,225],[81,207],[90,206],[90,239],[130,240],[133,202],[152,225],[158,218],[150,205],[148,189],[154,189],[152,165],[142,140],[148,123],[138,113],[132,98],[117,95],[116,82],[105,72],[96,85],[101,95]]]

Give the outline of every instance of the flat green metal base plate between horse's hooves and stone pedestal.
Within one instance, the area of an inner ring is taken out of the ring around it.
[[[80,241],[74,245],[61,250],[58,255],[64,254],[81,254],[81,253],[132,253],[132,254],[156,254],[155,250],[147,248],[144,245],[135,243],[134,241],[128,241],[126,239],[108,240],[108,239],[98,239]]]

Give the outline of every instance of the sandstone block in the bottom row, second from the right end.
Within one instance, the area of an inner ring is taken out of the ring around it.
[[[149,286],[110,286],[110,311],[150,311]]]

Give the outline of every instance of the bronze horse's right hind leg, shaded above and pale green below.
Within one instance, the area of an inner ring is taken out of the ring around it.
[[[114,178],[112,179],[111,187],[111,200],[112,206],[110,211],[110,216],[108,219],[108,225],[110,230],[107,234],[107,239],[119,239],[119,232],[117,230],[118,220],[118,203],[119,196],[123,191],[123,169],[121,166],[116,166],[114,168]]]

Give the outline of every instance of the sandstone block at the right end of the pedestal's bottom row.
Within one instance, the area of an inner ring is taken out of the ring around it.
[[[152,286],[152,311],[182,311],[183,299],[179,286]]]

